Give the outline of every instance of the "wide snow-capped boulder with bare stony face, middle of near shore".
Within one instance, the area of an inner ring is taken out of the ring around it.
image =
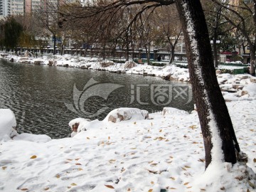
[[[122,122],[127,120],[142,120],[148,119],[149,112],[146,110],[139,110],[137,108],[119,108],[116,110],[112,110],[105,121],[107,122]]]

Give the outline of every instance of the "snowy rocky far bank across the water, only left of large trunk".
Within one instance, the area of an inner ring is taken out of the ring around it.
[[[55,65],[69,68],[83,68],[89,70],[104,70],[111,73],[129,73],[138,75],[151,75],[164,79],[174,79],[188,82],[188,69],[178,68],[175,65],[156,67],[151,65],[139,65],[133,61],[126,63],[114,63],[110,60],[98,58],[85,58],[71,55],[55,55],[53,58],[43,56],[41,58],[18,57],[15,55],[4,56],[6,60],[16,63],[33,63],[38,65]]]

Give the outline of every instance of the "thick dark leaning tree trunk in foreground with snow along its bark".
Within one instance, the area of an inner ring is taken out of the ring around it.
[[[176,0],[175,3],[186,42],[188,70],[206,152],[206,168],[216,161],[235,164],[235,149],[239,152],[240,148],[215,75],[201,2]]]

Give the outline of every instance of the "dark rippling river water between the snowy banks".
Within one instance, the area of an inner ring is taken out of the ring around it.
[[[118,107],[191,111],[191,86],[142,75],[0,60],[0,108],[14,112],[19,133],[69,137],[70,120],[101,120]]]

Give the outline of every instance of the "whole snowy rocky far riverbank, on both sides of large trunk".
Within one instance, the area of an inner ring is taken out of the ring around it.
[[[72,55],[54,55],[52,57],[43,56],[41,58],[20,57],[16,55],[2,54],[1,58],[15,63],[33,63],[35,65],[50,65],[66,68],[82,68],[87,70],[103,70],[110,73],[128,73],[134,75],[150,75],[165,80],[178,80],[182,82],[190,82],[188,69],[179,68],[176,65],[166,65],[164,67],[152,65],[140,65],[129,61],[126,63],[114,63],[110,60],[100,60],[99,58],[72,56]],[[226,67],[228,70],[237,67]],[[231,100],[247,100],[247,97],[255,97],[249,94],[254,89],[256,78],[249,74],[230,75],[222,74],[220,70],[216,70],[218,83],[223,92],[226,101]],[[249,86],[249,87],[247,87]]]

